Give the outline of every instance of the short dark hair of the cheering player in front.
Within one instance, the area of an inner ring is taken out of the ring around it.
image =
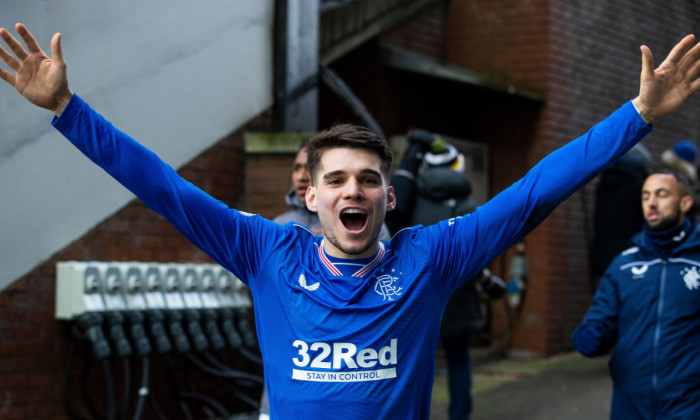
[[[349,147],[354,149],[365,149],[374,152],[381,161],[380,171],[388,180],[394,162],[394,155],[386,140],[376,135],[367,127],[353,124],[335,124],[331,128],[320,131],[311,139],[306,149],[311,175],[311,183],[314,183],[316,174],[321,166],[321,156],[327,149],[338,147]]]

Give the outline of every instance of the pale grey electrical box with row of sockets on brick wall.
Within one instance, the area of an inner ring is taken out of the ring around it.
[[[56,318],[86,312],[246,308],[245,285],[216,264],[62,261]]]

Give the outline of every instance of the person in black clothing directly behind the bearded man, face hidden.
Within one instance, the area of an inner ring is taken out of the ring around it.
[[[651,154],[637,144],[600,176],[595,190],[591,275],[597,284],[610,262],[629,247],[644,224],[639,205],[642,184],[649,174]]]

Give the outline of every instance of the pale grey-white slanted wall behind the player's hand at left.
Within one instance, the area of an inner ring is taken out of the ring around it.
[[[0,26],[26,24],[47,52],[61,32],[71,89],[178,168],[271,106],[273,9],[273,0],[3,0]],[[0,290],[133,199],[51,117],[2,82]]]

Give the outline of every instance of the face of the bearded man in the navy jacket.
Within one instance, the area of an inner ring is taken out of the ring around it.
[[[687,189],[672,174],[653,174],[644,181],[642,211],[649,229],[660,231],[678,226],[692,205]]]

